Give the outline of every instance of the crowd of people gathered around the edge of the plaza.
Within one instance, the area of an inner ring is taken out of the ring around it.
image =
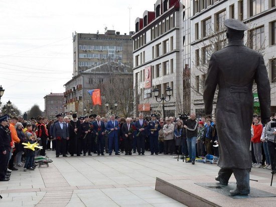
[[[187,162],[192,164],[197,157],[206,154],[219,157],[215,119],[201,117],[197,120],[195,113],[187,119],[158,120],[155,114],[151,118],[140,114],[136,119],[111,115],[107,120],[93,114],[78,118],[73,114],[72,119],[57,115],[56,118],[37,117],[26,121],[22,116],[0,117],[1,181],[8,181],[11,172],[18,170],[16,167],[35,170],[35,155],[45,156],[46,150],[56,151],[56,157],[104,156],[112,152],[145,155],[145,151],[150,151],[151,155],[181,154],[189,157]],[[252,167],[272,169],[272,172],[276,171],[273,164],[276,126],[273,123],[276,123],[276,114],[266,126],[254,115],[251,129]],[[39,142],[42,149],[33,151],[22,144],[35,142]]]

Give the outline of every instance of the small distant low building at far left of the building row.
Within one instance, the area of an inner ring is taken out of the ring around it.
[[[54,118],[55,115],[63,113],[63,93],[50,93],[44,96],[44,116]]]

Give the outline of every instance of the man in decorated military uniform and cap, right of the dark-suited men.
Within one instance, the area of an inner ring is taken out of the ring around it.
[[[151,155],[158,155],[158,131],[161,129],[159,122],[156,120],[156,115],[151,115],[152,120],[149,122],[149,137],[151,145]]]

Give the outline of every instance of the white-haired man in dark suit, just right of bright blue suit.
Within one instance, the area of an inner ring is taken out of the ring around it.
[[[130,118],[126,118],[126,123],[122,125],[122,137],[124,139],[124,151],[125,155],[131,155],[133,145],[133,133],[135,131],[134,124],[131,123]]]

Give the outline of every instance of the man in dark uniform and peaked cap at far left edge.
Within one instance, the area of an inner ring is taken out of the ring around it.
[[[8,119],[8,115],[0,117],[0,181],[9,181],[11,174],[7,173],[12,142]]]

